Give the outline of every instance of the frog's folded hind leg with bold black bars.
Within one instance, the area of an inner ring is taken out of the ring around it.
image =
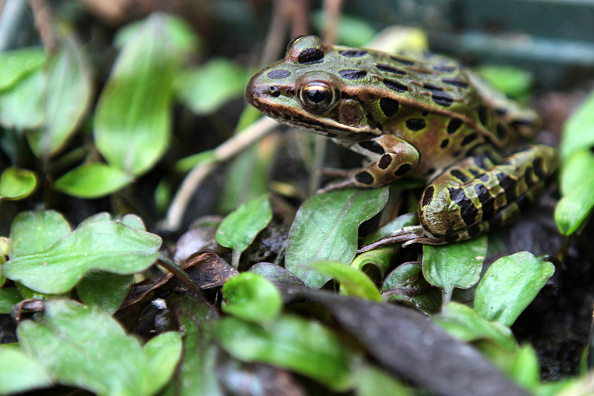
[[[557,168],[556,150],[531,146],[493,166],[467,158],[444,171],[423,193],[419,218],[427,236],[451,242],[512,222]]]

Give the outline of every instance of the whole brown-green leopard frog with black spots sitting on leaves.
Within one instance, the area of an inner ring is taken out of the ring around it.
[[[369,159],[326,191],[401,177],[427,181],[420,225],[384,243],[442,244],[505,225],[557,167],[552,147],[508,150],[539,126],[535,112],[443,56],[396,56],[303,36],[252,77],[246,97],[267,116]]]

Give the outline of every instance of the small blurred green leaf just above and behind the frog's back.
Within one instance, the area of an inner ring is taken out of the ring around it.
[[[532,73],[513,66],[484,65],[478,72],[498,91],[515,98],[526,95],[534,82]]]

